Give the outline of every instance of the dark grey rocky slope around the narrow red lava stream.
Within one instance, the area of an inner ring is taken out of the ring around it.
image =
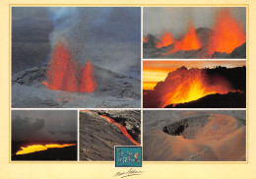
[[[111,117],[115,122],[124,124],[133,139],[140,142],[140,111],[81,111],[81,160],[113,160],[114,146],[134,146],[116,126],[99,115]]]

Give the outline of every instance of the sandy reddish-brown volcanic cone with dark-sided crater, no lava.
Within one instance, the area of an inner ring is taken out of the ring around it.
[[[149,119],[144,120],[146,123]],[[169,119],[160,123],[165,125],[145,129],[144,160],[245,160],[243,119],[206,112],[176,122]]]

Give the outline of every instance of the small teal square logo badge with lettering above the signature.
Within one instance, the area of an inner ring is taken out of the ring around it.
[[[142,147],[115,147],[115,167],[142,167]]]

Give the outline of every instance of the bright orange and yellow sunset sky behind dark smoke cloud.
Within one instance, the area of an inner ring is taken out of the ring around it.
[[[182,66],[191,68],[226,68],[242,67],[246,61],[144,61],[143,62],[143,89],[154,89],[158,82],[164,81],[169,72]]]

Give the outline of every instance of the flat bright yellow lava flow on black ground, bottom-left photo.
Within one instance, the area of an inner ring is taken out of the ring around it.
[[[16,154],[27,154],[35,151],[41,151],[51,148],[66,148],[76,146],[76,144],[63,144],[63,145],[57,145],[57,144],[50,144],[50,145],[32,145],[28,146],[26,148],[22,147],[21,150],[17,151]]]

